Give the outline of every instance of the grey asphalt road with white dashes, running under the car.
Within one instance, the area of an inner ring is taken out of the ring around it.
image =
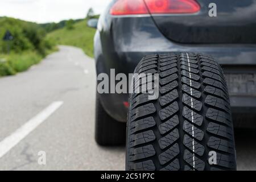
[[[94,142],[94,69],[81,49],[61,46],[27,72],[0,78],[0,170],[125,169],[125,147]],[[255,130],[236,130],[238,169],[256,170],[255,139]]]

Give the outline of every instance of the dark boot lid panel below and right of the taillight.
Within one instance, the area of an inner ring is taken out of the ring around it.
[[[201,9],[196,14],[153,14],[152,17],[162,34],[176,43],[256,43],[256,1],[197,0],[197,2]],[[216,4],[216,17],[208,16],[210,3]]]

